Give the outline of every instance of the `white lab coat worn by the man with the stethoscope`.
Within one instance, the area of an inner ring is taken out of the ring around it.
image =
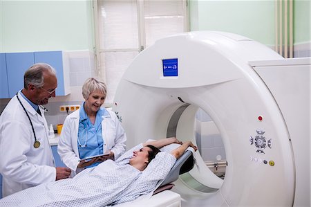
[[[35,129],[40,147],[35,148],[35,136],[30,121],[14,96],[0,116],[0,173],[3,176],[3,197],[14,192],[55,181],[56,169],[48,142],[48,125],[42,116],[21,96]]]

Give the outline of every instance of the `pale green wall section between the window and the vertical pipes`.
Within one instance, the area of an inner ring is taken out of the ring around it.
[[[243,35],[266,45],[274,44],[272,0],[190,0],[189,5],[190,30],[220,30]]]

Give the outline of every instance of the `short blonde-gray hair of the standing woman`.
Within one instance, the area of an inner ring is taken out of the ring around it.
[[[98,80],[97,78],[86,79],[82,87],[83,98],[88,99],[88,96],[90,96],[90,94],[94,91],[100,91],[104,94],[104,98],[106,98],[107,87],[102,80]]]

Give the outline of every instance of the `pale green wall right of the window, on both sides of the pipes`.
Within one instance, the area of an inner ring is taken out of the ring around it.
[[[294,44],[311,41],[311,0],[293,0]],[[237,33],[274,45],[274,0],[189,0],[190,30]]]

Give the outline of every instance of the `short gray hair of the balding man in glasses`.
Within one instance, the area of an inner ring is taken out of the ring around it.
[[[48,72],[56,76],[55,69],[49,64],[36,63],[30,66],[30,68],[23,75],[23,87],[28,89],[28,84],[32,84],[37,88],[43,87],[44,72]]]

